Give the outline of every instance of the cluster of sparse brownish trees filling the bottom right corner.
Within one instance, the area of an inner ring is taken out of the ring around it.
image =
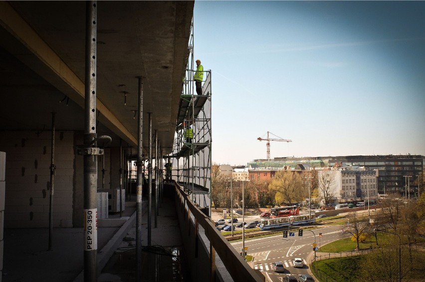
[[[359,266],[361,281],[409,281],[425,271],[425,193],[408,202],[391,195],[380,202],[379,209],[371,217],[356,212],[348,216],[346,231],[357,241],[357,248],[368,238],[378,246]],[[388,236],[379,242],[378,232]]]

